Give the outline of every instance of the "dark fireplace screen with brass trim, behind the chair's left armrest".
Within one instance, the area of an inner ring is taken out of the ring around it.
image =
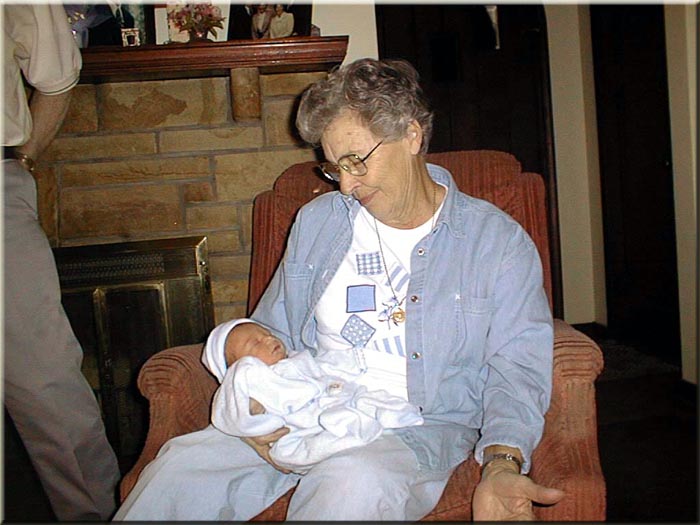
[[[62,301],[122,472],[138,458],[148,403],[141,365],[213,328],[206,237],[57,248]]]

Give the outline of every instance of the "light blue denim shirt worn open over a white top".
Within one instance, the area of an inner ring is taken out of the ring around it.
[[[535,244],[492,204],[449,188],[433,232],[414,247],[406,301],[408,398],[425,424],[397,431],[421,468],[454,467],[500,444],[523,453],[542,435],[552,386],[552,315]],[[319,298],[350,248],[360,204],[339,192],[306,204],[252,318],[290,351],[315,354]]]

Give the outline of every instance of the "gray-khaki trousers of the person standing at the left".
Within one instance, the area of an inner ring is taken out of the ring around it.
[[[4,402],[56,517],[108,519],[119,468],[80,367],[83,352],[61,305],[33,177],[3,170]]]

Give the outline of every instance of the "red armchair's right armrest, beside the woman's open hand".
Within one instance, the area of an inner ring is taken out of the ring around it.
[[[604,521],[605,479],[600,466],[594,381],[603,369],[596,343],[564,321],[554,324],[552,403],[530,476],[567,496],[536,507],[546,521]]]

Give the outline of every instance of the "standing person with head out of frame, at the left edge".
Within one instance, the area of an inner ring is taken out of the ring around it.
[[[33,178],[82,61],[61,4],[7,4],[2,14],[4,402],[56,517],[106,520],[119,468],[61,305]],[[34,88],[30,102],[23,76]]]

